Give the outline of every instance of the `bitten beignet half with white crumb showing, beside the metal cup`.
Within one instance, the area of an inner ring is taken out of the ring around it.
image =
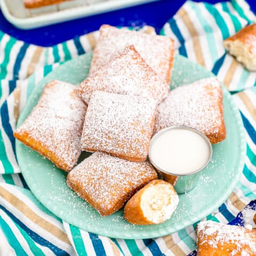
[[[171,218],[178,203],[179,197],[170,183],[153,180],[127,202],[124,218],[135,225],[162,223]]]

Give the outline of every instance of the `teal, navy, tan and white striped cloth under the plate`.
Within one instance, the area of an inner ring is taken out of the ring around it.
[[[215,5],[188,1],[161,31],[174,38],[179,54],[211,70],[234,93],[246,130],[241,179],[207,220],[239,223],[236,215],[256,198],[256,73],[245,70],[222,45],[223,39],[255,21],[244,0]],[[154,33],[151,27],[142,30]],[[196,223],[156,239],[101,237],[45,209],[20,173],[12,133],[31,91],[63,62],[92,51],[97,38],[98,31],[53,47],[39,47],[0,32],[0,255],[196,255]]]

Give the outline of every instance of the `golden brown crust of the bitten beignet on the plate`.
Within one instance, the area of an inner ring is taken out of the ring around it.
[[[150,221],[143,212],[141,207],[141,197],[142,195],[149,189],[150,187],[158,186],[158,185],[167,185],[170,187],[170,183],[164,180],[153,180],[150,181],[145,187],[140,189],[133,197],[126,203],[124,206],[124,219],[134,225],[149,225],[149,224],[157,224],[155,222]],[[176,194],[173,186],[172,190]]]

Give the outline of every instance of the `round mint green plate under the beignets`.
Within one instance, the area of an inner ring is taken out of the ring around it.
[[[34,89],[22,111],[18,126],[36,105],[43,86],[52,79],[78,84],[87,76],[91,54],[85,54],[54,69]],[[175,57],[171,87],[213,76],[202,66],[179,55]],[[239,111],[230,94],[224,91],[227,138],[213,145],[213,157],[202,172],[195,189],[180,195],[172,218],[160,225],[134,226],[122,217],[122,210],[101,217],[65,183],[66,173],[50,161],[16,141],[22,174],[37,199],[59,218],[92,233],[115,238],[153,238],[185,228],[217,209],[231,194],[242,173],[245,135]],[[186,161],[186,159],[184,159]]]

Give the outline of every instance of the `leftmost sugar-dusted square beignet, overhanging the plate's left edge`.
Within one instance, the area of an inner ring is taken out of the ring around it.
[[[81,154],[85,103],[77,86],[51,81],[25,122],[14,131],[16,139],[70,171]]]

